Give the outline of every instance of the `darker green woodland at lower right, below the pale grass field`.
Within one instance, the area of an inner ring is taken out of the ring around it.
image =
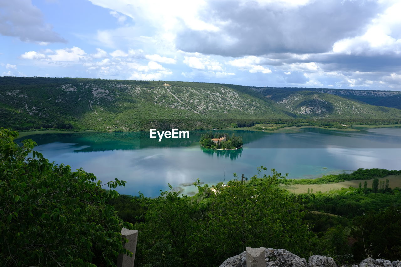
[[[305,205],[305,220],[328,242],[340,263],[367,257],[401,258],[401,190],[399,188],[342,188],[328,193],[292,194]]]

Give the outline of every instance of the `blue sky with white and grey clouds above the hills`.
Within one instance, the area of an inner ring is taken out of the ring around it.
[[[401,1],[0,0],[0,76],[401,91]]]

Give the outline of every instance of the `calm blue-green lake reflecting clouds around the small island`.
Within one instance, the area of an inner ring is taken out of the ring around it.
[[[334,131],[301,128],[297,132],[225,131],[243,137],[235,151],[207,150],[199,146],[204,131],[189,139],[149,139],[146,132],[36,134],[34,149],[57,164],[83,168],[103,182],[118,178],[120,194],[156,197],[167,184],[177,187],[197,178],[209,185],[257,174],[257,167],[275,168],[288,178],[317,178],[358,168],[401,169],[401,127],[358,128]],[[214,131],[214,132],[223,132]],[[18,141],[18,140],[17,140]],[[267,172],[270,174],[270,171]],[[185,194],[197,192],[182,186]]]

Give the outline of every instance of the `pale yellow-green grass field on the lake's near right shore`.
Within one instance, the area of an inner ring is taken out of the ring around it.
[[[389,179],[389,186],[391,188],[401,187],[401,175],[389,175],[387,177],[380,178],[379,181],[385,181]],[[372,188],[373,179],[366,180],[368,182],[368,188]],[[339,182],[334,184],[292,184],[292,185],[284,185],[281,184],[280,187],[285,188],[293,193],[307,193],[308,188],[313,189],[313,192],[328,192],[330,190],[336,190],[341,188],[349,188],[355,187],[358,188],[359,183],[365,183],[365,180],[350,180],[345,182]]]

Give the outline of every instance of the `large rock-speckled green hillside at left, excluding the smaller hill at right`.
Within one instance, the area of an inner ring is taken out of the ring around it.
[[[213,125],[213,119],[290,118],[274,101],[219,84],[15,77],[0,81],[0,123],[14,129],[39,125],[130,131],[149,120],[182,120],[195,129],[219,125]]]

